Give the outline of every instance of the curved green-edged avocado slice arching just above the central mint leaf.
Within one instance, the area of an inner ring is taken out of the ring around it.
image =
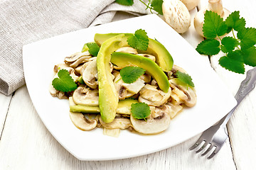
[[[126,52],[113,52],[111,57],[111,62],[116,64],[118,67],[127,67],[127,66],[136,66],[141,67],[146,70],[146,74],[151,75],[159,88],[167,93],[169,90],[170,84],[166,74],[163,70],[153,62],[149,58],[140,56],[140,55],[132,55]]]

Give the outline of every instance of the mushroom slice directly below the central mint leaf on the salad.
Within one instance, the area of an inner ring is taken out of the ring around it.
[[[139,93],[139,91],[145,85],[144,80],[140,78],[131,84],[126,84],[122,80],[122,77],[119,73],[116,73],[115,75],[116,76],[114,78],[114,86],[118,91],[119,100],[124,100],[124,98],[129,98],[134,94]]]

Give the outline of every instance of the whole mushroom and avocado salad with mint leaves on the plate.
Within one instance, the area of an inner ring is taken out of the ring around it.
[[[191,77],[145,30],[97,33],[94,40],[56,64],[50,84],[53,97],[69,100],[70,119],[80,130],[157,134],[184,107],[195,106]]]

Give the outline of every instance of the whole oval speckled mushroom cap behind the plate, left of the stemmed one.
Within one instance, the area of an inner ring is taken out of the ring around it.
[[[162,4],[164,20],[177,33],[185,33],[191,25],[188,8],[180,0],[165,0]]]

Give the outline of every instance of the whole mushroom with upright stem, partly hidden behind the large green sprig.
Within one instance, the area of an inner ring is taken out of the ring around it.
[[[198,13],[196,13],[196,16],[194,18],[194,27],[196,29],[196,32],[203,37],[203,23],[204,23],[204,14],[206,11],[213,11],[215,13],[218,13],[220,17],[225,20],[228,18],[230,11],[228,9],[223,8],[223,4],[221,0],[209,0],[208,1],[208,7],[202,8]]]

